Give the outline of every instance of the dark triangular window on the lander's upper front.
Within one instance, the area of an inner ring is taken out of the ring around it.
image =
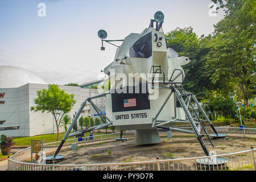
[[[152,56],[151,32],[142,36],[130,47],[130,57],[148,58]]]

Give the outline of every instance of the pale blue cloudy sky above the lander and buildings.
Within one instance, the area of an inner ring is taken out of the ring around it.
[[[101,70],[114,60],[116,47],[105,43],[101,51],[98,30],[108,32],[107,39],[124,39],[141,33],[155,12],[162,11],[165,33],[191,26],[197,36],[208,35],[224,18],[222,11],[209,14],[210,3],[0,0],[0,65],[27,69],[49,84],[82,84],[102,77]]]

